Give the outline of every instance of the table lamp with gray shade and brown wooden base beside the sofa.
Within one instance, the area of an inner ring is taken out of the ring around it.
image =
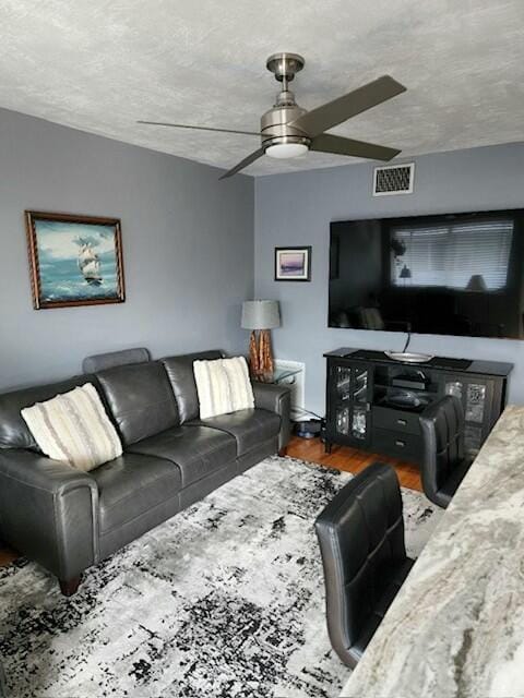
[[[251,329],[249,340],[251,375],[255,377],[272,375],[274,363],[270,330],[281,326],[278,301],[245,301],[241,326],[243,329]]]

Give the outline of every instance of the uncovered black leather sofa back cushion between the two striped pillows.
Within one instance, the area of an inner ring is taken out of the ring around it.
[[[124,445],[177,426],[177,402],[158,361],[116,366],[96,374]]]

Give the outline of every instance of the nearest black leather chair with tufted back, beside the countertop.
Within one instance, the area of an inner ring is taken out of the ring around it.
[[[353,669],[414,563],[406,555],[401,489],[393,468],[374,462],[359,472],[314,526],[330,640]]]

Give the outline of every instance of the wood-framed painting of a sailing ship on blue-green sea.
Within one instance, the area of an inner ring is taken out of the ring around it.
[[[118,218],[26,210],[36,310],[124,301]]]

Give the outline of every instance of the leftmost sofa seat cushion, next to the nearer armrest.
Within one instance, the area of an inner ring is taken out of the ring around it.
[[[177,497],[182,488],[169,460],[124,453],[92,470],[98,485],[100,533],[107,533]]]

